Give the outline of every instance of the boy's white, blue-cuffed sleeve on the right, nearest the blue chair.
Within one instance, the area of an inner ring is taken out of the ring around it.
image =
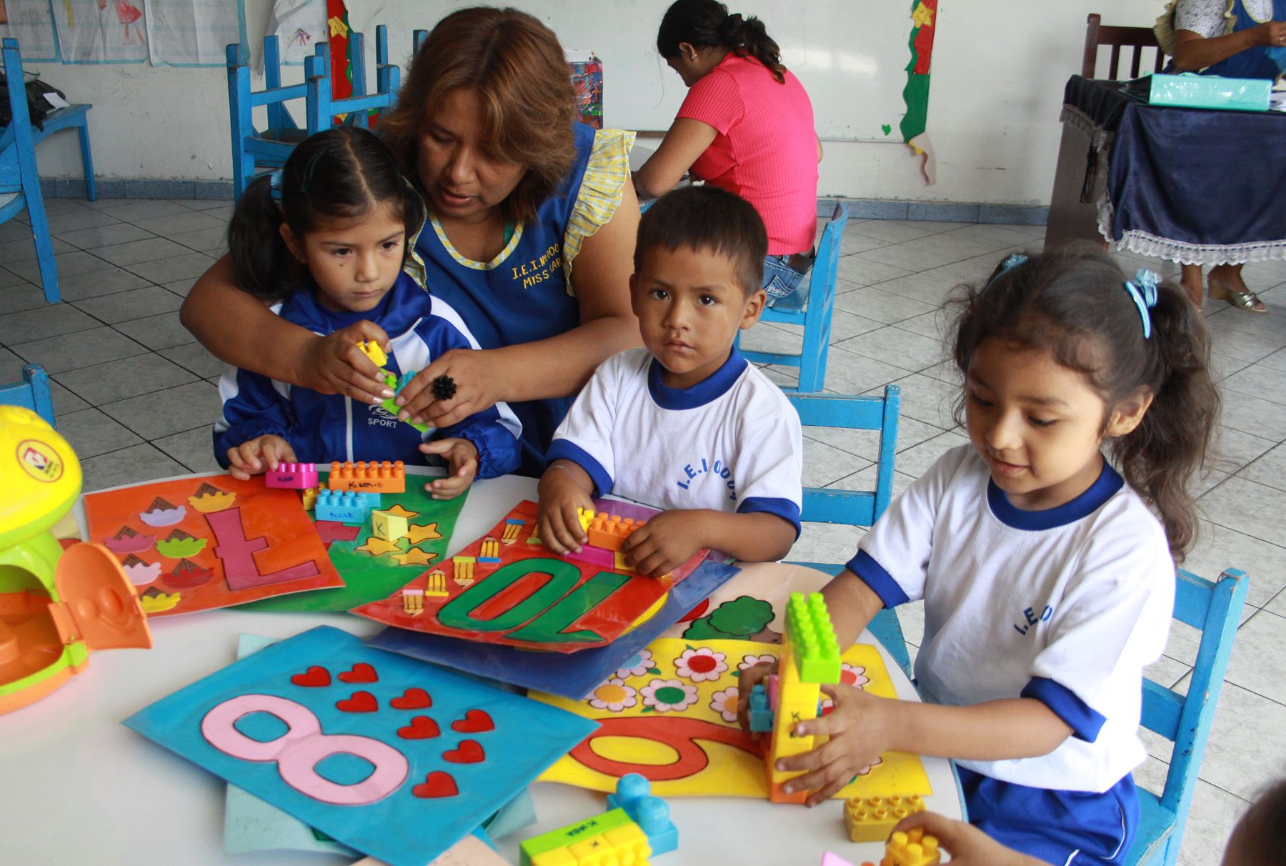
[[[800,535],[804,506],[804,435],[795,407],[775,394],[752,404],[737,443],[737,513],[777,515]]]

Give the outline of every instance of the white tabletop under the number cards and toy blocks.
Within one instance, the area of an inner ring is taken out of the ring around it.
[[[482,535],[523,498],[535,498],[532,479],[477,483],[448,555]],[[224,854],[225,782],[121,724],[152,701],[231,664],[239,632],[285,638],[318,624],[359,637],[383,628],[347,614],[216,610],[161,618],[152,623],[150,651],[95,654],[89,669],[69,685],[0,715],[0,863],[351,863],[352,858],[303,852]],[[914,699],[910,682],[882,647],[881,654],[899,696]],[[926,758],[925,769],[935,791],[928,807],[959,817],[949,763]],[[565,785],[539,782],[531,794],[539,825],[498,842],[513,863],[521,839],[604,809],[602,794]],[[814,809],[747,798],[673,798],[669,803],[680,844],[657,861],[662,866],[813,865],[826,851],[860,863],[878,862],[882,854],[880,844],[847,840],[838,800]]]

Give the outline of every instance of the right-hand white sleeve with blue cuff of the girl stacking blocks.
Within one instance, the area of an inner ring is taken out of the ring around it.
[[[1110,714],[1137,706],[1143,667],[1160,658],[1169,634],[1174,561],[1160,526],[1134,529],[1096,533],[1057,607],[1030,614],[1048,616],[1049,632],[1022,696],[1089,742]]]

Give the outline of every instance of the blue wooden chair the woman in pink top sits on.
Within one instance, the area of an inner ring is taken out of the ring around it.
[[[772,351],[746,351],[748,360],[760,364],[783,364],[797,367],[799,386],[783,389],[787,392],[808,394],[820,391],[826,385],[826,358],[831,349],[831,317],[835,311],[835,279],[840,265],[840,238],[849,223],[849,207],[844,202],[835,206],[831,221],[822,230],[817,259],[809,272],[808,299],[805,309],[791,309],[795,296],[782,299],[777,305],[764,309],[760,317],[764,322],[782,322],[804,326],[804,349],[797,355]]]

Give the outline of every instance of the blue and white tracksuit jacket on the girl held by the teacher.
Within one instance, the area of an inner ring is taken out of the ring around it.
[[[404,371],[424,369],[451,349],[478,347],[459,314],[441,299],[431,297],[405,273],[374,310],[328,310],[318,304],[311,286],[303,286],[274,305],[273,311],[318,335],[361,319],[374,322],[391,341],[385,369],[399,376]],[[421,441],[460,436],[478,449],[478,477],[495,477],[518,467],[522,425],[504,403],[450,427],[430,427],[421,436],[383,407],[355,403],[337,394],[318,394],[235,367],[219,381],[219,394],[224,413],[215,422],[215,459],[224,468],[229,448],[265,434],[291,443],[301,463],[403,461],[408,466],[423,466],[431,459],[440,461],[422,454],[418,450]]]

